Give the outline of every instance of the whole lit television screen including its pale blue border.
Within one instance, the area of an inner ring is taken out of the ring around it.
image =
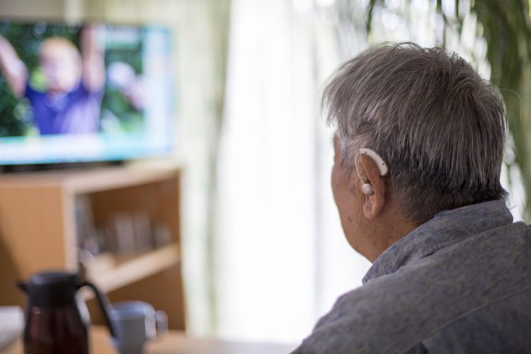
[[[171,54],[159,25],[0,22],[0,164],[169,152]]]

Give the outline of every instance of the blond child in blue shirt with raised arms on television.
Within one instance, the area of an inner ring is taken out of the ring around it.
[[[81,53],[64,37],[38,45],[42,89],[30,84],[27,65],[0,34],[0,69],[16,98],[28,98],[41,135],[96,133],[105,84],[104,48],[96,25],[81,30]]]

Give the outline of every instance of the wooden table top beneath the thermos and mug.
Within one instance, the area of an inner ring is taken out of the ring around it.
[[[105,327],[91,327],[91,353],[115,354],[110,346],[108,331]],[[285,354],[295,349],[296,345],[287,346],[273,343],[242,343],[220,341],[217,339],[190,338],[180,331],[169,331],[159,340],[147,344],[146,354]],[[22,340],[4,350],[1,354],[22,354]]]

